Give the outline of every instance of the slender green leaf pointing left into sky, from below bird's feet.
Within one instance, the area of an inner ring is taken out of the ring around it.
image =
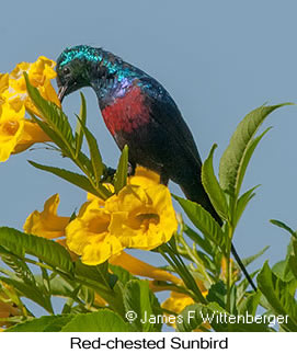
[[[62,180],[66,180],[67,182],[70,182],[70,183],[77,185],[78,187],[80,187],[87,192],[90,192],[101,198],[105,199],[106,196],[112,195],[111,192],[107,189],[105,189],[104,185],[102,185],[102,184],[99,184],[98,189],[94,189],[92,186],[92,184],[90,183],[90,181],[82,174],[67,171],[65,169],[59,169],[59,168],[55,168],[55,167],[50,167],[50,165],[41,164],[41,163],[33,162],[30,160],[28,160],[28,163],[34,165],[36,169],[50,172],[50,173],[61,178]]]

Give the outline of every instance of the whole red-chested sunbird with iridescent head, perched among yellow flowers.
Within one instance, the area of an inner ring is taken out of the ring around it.
[[[202,159],[176,103],[155,78],[121,57],[88,45],[66,48],[57,59],[60,101],[91,87],[105,125],[118,148],[128,146],[130,173],[139,164],[180,185],[187,199],[205,208],[221,226],[202,184]],[[233,244],[232,254],[255,290]]]

